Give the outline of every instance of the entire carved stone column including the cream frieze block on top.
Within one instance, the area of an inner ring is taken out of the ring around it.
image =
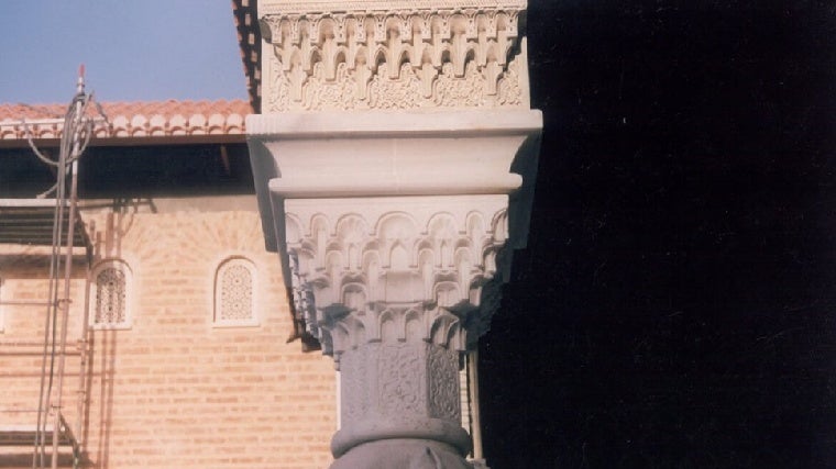
[[[466,468],[463,353],[525,246],[525,1],[263,1],[246,121],[268,249],[341,375],[333,468]]]

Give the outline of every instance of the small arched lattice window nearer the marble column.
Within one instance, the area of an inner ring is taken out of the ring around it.
[[[243,257],[224,260],[215,273],[217,326],[258,325],[255,316],[255,266]]]

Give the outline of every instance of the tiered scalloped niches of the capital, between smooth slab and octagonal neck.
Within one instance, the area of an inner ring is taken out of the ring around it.
[[[343,199],[364,208],[345,212],[337,203],[288,200],[286,234],[296,311],[338,367],[345,350],[370,342],[464,350],[487,331],[507,197]]]

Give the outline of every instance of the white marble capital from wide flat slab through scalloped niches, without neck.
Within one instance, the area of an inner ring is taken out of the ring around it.
[[[380,339],[386,321],[400,339],[408,330],[459,350],[486,332],[506,259],[525,246],[540,119],[482,110],[248,118],[267,245],[338,366],[358,340]],[[421,305],[415,325],[406,313],[381,315],[407,303]],[[454,331],[443,340],[440,323]]]

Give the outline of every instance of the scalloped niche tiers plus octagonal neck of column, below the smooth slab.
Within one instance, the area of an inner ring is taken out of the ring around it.
[[[297,310],[341,373],[333,467],[468,467],[458,371],[496,308],[507,197],[296,199],[285,210],[307,299]]]

